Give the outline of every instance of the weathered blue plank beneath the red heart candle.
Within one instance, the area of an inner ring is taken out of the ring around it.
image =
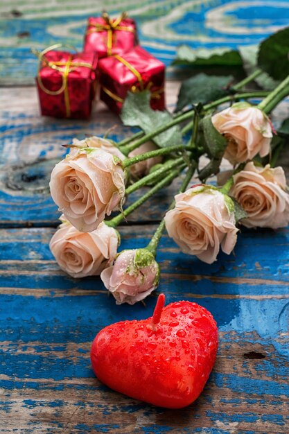
[[[122,248],[143,247],[154,228],[121,227]],[[202,304],[220,331],[209,382],[182,410],[148,406],[94,378],[95,334],[118,320],[147,318],[157,294],[146,306],[116,306],[99,278],[59,270],[48,248],[52,233],[0,232],[0,432],[288,432],[288,229],[243,231],[235,255],[221,254],[213,266],[161,240],[159,291],[167,302]]]

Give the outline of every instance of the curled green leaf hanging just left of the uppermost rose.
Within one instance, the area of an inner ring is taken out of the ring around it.
[[[227,148],[227,140],[213,126],[211,116],[205,116],[200,121],[200,138],[202,146],[207,150],[207,154],[211,160],[199,173],[199,178],[203,182],[220,170],[220,162]]]

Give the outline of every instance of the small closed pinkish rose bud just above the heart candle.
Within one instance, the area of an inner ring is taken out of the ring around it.
[[[159,265],[146,249],[123,250],[100,277],[116,304],[134,304],[157,288]]]

